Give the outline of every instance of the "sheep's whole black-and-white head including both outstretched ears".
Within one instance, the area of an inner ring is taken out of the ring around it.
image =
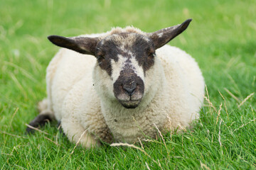
[[[112,82],[110,95],[125,108],[136,108],[142,101],[146,72],[154,66],[155,50],[186,30],[191,19],[177,26],[143,33],[136,28],[114,29],[102,37],[65,38],[50,35],[53,44],[97,57]]]

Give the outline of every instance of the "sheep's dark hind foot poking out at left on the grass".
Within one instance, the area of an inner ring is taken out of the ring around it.
[[[34,120],[32,120],[28,125],[33,126],[34,128],[43,127],[46,123],[51,122],[53,119],[50,118],[50,115],[38,115]],[[32,128],[27,127],[26,133],[33,134],[35,130]]]

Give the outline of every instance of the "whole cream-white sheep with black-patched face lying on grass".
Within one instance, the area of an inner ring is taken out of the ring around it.
[[[58,120],[70,142],[85,148],[189,128],[199,118],[204,79],[190,55],[166,43],[190,22],[154,33],[128,26],[70,38],[50,35],[64,48],[48,65],[48,97],[30,125]]]

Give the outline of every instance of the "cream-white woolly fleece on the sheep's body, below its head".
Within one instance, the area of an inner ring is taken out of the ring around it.
[[[146,71],[145,91],[137,108],[124,108],[113,95],[113,84],[92,55],[61,49],[47,69],[48,110],[61,121],[73,142],[90,148],[104,142],[137,142],[157,130],[186,128],[199,117],[204,80],[186,52],[164,45]],[[107,95],[105,95],[107,94]],[[110,96],[112,98],[106,98]],[[155,127],[156,126],[156,127]]]

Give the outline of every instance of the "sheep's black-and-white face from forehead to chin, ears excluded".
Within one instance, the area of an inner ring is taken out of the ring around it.
[[[154,55],[152,40],[137,33],[110,35],[98,43],[97,62],[114,79],[114,96],[125,108],[136,108],[142,101],[142,79],[154,65]],[[118,68],[118,73],[117,70],[113,72],[112,67]]]

